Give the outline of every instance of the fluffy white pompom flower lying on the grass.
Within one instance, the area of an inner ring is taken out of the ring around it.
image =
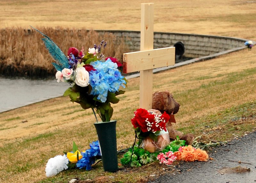
[[[68,169],[68,158],[66,155],[57,155],[48,160],[45,168],[45,175],[51,177],[57,175],[62,170]]]

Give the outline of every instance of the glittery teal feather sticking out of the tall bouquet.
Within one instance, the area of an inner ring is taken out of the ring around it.
[[[30,26],[32,27],[32,26]],[[68,65],[68,58],[65,56],[65,54],[60,50],[60,48],[49,38],[47,35],[43,34],[36,28],[32,27],[37,32],[42,34],[44,38],[42,40],[44,41],[44,45],[46,49],[49,51],[52,58],[56,61],[56,63],[52,63],[52,65],[55,67],[56,70],[62,71],[64,68],[69,68]]]

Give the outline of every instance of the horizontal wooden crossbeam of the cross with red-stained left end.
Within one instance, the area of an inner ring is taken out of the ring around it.
[[[129,60],[129,62],[127,62]],[[123,72],[137,72],[175,64],[175,47],[123,54]]]

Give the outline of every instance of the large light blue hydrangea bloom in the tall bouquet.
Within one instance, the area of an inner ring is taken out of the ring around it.
[[[98,100],[104,103],[107,100],[108,91],[115,93],[121,86],[125,88],[124,76],[118,71],[117,64],[110,58],[106,62],[97,60],[91,65],[96,69],[90,72],[91,95],[97,96]]]

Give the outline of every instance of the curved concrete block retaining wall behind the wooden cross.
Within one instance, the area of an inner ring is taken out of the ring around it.
[[[131,51],[140,50],[140,31],[97,31],[99,33],[112,33],[116,37],[123,37]],[[245,39],[198,35],[198,34],[180,34],[180,33],[154,33],[154,49],[173,46],[176,42],[182,42],[185,46],[185,57],[203,57],[231,50],[237,47],[243,47]]]

